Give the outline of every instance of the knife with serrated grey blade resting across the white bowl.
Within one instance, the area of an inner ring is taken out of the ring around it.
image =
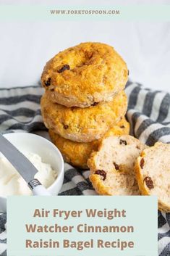
[[[38,179],[34,178],[35,174],[38,173],[38,170],[35,168],[32,162],[30,162],[27,157],[22,154],[22,152],[20,152],[1,134],[0,152],[4,154],[4,157],[6,157],[9,162],[11,162],[18,173],[20,173],[20,176],[24,178],[30,189],[33,190],[33,194],[50,195],[48,191],[41,185]]]

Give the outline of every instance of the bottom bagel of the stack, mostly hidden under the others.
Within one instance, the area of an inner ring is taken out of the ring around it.
[[[119,121],[113,128],[111,128],[105,136],[108,135],[123,135],[129,134],[129,123],[125,119]],[[88,169],[88,158],[90,157],[91,152],[93,150],[98,149],[98,145],[101,142],[101,139],[80,143],[75,141],[70,141],[69,139],[64,139],[58,134],[54,133],[53,130],[49,130],[49,135],[53,143],[58,147],[61,151],[61,154],[64,157],[66,162],[69,162],[71,165],[75,165],[78,168]]]

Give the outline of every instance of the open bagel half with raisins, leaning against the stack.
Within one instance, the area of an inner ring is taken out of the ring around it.
[[[90,155],[90,181],[101,195],[140,195],[134,165],[145,145],[132,136],[106,136]]]

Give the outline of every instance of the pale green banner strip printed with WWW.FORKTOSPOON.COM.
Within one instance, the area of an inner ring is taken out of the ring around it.
[[[127,4],[87,6],[44,4],[0,4],[1,21],[56,21],[56,20],[170,20],[169,4]]]

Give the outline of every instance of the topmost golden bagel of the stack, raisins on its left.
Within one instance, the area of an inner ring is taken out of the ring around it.
[[[127,83],[127,65],[113,47],[82,43],[60,51],[43,69],[41,83],[51,101],[66,107],[90,107],[111,101]]]

